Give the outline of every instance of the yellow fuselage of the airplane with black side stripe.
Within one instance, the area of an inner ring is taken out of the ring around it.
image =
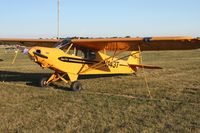
[[[65,53],[59,48],[32,47],[29,50],[29,55],[41,67],[63,73],[91,75],[135,72],[134,69],[129,67],[127,61],[111,57],[100,51],[95,52],[95,57],[90,59],[90,57],[85,58],[76,54],[69,54],[69,52]]]

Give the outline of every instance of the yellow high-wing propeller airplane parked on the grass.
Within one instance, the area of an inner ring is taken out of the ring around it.
[[[78,82],[79,75],[133,74],[138,68],[161,69],[141,64],[141,51],[200,48],[200,40],[192,37],[60,40],[0,38],[0,42],[18,42],[33,46],[27,51],[30,58],[42,68],[55,71],[49,78],[40,81],[41,87],[62,80],[70,84],[73,91],[82,89]],[[52,45],[55,47],[48,47]]]

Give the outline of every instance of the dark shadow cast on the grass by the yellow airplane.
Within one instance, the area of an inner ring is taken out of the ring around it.
[[[103,78],[103,77],[113,77],[113,76],[125,76],[125,74],[119,75],[87,75],[87,76],[79,76],[79,80],[82,79],[95,79],[95,78]],[[127,75],[127,74],[126,74]],[[40,80],[44,77],[50,77],[51,73],[25,73],[25,72],[14,72],[14,71],[0,71],[0,82],[26,82],[29,86],[40,86]],[[68,77],[66,77],[68,79]],[[57,85],[52,85],[55,88],[66,88],[59,87]]]

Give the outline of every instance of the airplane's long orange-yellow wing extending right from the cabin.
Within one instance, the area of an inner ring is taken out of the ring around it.
[[[200,48],[200,39],[192,37],[146,37],[72,39],[74,45],[92,50],[189,50]]]

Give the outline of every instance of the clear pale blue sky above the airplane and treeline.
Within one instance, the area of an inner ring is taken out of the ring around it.
[[[60,0],[61,37],[200,36],[200,0]],[[0,38],[57,36],[57,0],[0,0]]]

